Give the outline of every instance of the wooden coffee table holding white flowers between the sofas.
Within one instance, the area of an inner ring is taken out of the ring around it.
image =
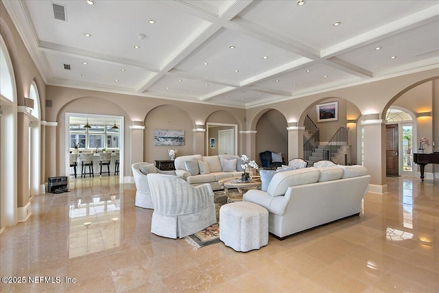
[[[218,180],[218,183],[226,191],[227,203],[242,201],[242,196],[248,189],[261,189],[262,185],[261,176],[252,176],[251,180],[248,181],[243,181],[239,177],[224,178]]]

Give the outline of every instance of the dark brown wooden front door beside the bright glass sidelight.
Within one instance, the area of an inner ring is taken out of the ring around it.
[[[385,133],[385,173],[389,176],[399,176],[398,124],[386,125]]]

